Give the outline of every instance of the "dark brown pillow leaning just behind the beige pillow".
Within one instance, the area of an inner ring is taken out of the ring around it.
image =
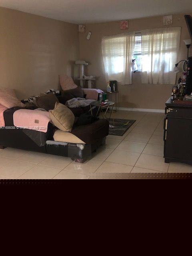
[[[53,93],[40,94],[40,97],[36,98],[38,108],[44,108],[47,111],[54,109],[55,103],[59,102],[58,98]]]

